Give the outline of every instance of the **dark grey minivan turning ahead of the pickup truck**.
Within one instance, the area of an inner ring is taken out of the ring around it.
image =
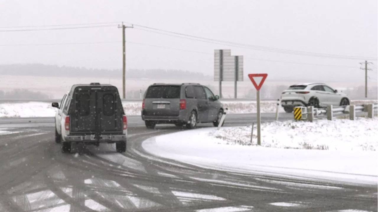
[[[154,83],[144,93],[141,115],[147,128],[172,123],[194,129],[197,123],[218,126],[223,105],[218,95],[199,83]]]

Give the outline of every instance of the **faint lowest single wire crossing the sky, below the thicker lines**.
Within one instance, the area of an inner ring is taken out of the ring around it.
[[[106,43],[122,43],[122,42],[121,41],[98,41],[98,42],[78,42],[78,43],[4,44],[4,45],[0,45],[0,46],[6,47],[6,46],[54,46],[54,45],[88,45],[88,44],[91,45],[91,44],[106,44]],[[192,50],[188,50],[188,49],[178,49],[178,48],[171,48],[171,47],[167,47],[167,46],[158,46],[158,45],[138,43],[138,42],[132,42],[132,41],[126,41],[126,43],[132,43],[132,44],[143,45],[143,46],[151,46],[151,47],[163,48],[163,49],[171,49],[171,50],[175,50],[175,51],[214,55],[214,54],[209,53],[209,52],[192,51]],[[301,63],[301,62],[291,62],[291,61],[259,59],[259,58],[251,58],[251,57],[244,57],[244,58],[249,59],[249,60],[268,61],[268,62],[274,62],[274,63],[291,63],[291,64],[297,64],[297,65],[328,66],[328,67],[353,68],[353,69],[359,68],[357,66],[339,66],[339,65],[326,65],[326,64],[316,64],[316,63]]]

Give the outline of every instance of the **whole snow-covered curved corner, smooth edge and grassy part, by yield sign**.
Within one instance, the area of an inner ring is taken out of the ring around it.
[[[201,128],[144,141],[151,154],[201,167],[378,184],[378,120],[262,124],[262,146],[251,126]]]

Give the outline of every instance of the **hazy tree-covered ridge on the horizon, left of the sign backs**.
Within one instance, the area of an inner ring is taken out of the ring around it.
[[[56,66],[43,64],[11,64],[0,65],[0,75],[41,76],[41,77],[104,77],[120,78],[121,69],[91,69],[70,66]],[[198,72],[184,70],[164,69],[129,69],[127,78],[146,79],[186,79],[186,80],[212,80],[213,77]]]

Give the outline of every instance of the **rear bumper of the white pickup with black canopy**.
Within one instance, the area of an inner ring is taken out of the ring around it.
[[[115,143],[126,141],[126,135],[101,135],[100,139],[95,139],[93,135],[66,135],[64,141],[67,142],[84,142],[84,143]]]

